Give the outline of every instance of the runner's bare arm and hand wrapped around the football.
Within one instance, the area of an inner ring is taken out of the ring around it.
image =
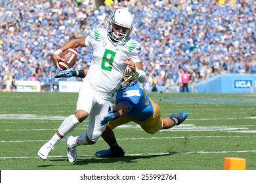
[[[64,50],[67,50],[68,48],[77,48],[78,46],[81,47],[86,47],[85,46],[85,39],[87,38],[87,36],[84,37],[79,37],[77,39],[72,39],[68,42],[66,42],[65,44],[63,44],[63,46],[60,47],[60,49],[56,50],[55,52],[53,52],[53,61],[56,65],[56,67],[62,71],[62,69],[60,69],[60,66],[58,65],[59,61],[64,61],[63,58],[60,58],[60,54],[62,54],[62,52]]]

